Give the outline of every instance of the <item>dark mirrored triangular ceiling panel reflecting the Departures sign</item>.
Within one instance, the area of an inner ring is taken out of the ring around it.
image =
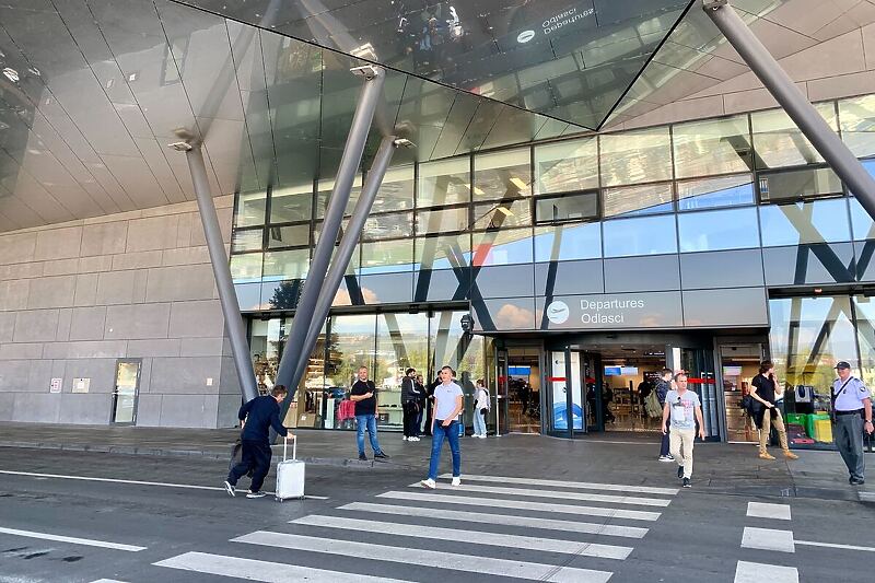
[[[595,128],[690,0],[173,0]]]

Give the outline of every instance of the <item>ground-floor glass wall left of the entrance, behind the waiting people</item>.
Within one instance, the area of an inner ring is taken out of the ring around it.
[[[491,340],[465,334],[464,311],[434,313],[342,314],[329,317],[311,354],[304,385],[295,394],[287,427],[354,429],[352,407],[345,406],[360,366],[377,387],[381,427],[401,428],[401,380],[408,368],[433,382],[441,366],[456,372],[465,392],[470,425],[475,383],[487,377]],[[250,350],[260,394],[273,388],[292,318],[253,319]]]

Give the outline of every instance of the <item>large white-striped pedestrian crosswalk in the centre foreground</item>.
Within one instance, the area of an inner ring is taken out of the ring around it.
[[[184,552],[154,564],[271,583],[434,581],[453,572],[489,581],[604,583],[678,492],[502,476],[464,479],[460,487],[438,491],[390,490],[244,534],[229,541],[228,555]]]

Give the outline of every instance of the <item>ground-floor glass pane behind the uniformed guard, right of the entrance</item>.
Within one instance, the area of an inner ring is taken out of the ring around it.
[[[813,394],[797,399],[788,392],[784,406],[788,413],[826,413],[830,408],[829,392],[840,360],[851,364],[859,374],[856,338],[851,324],[851,299],[848,296],[788,298],[769,300],[771,330],[769,345],[774,373],[786,386],[812,387]],[[808,393],[808,392],[806,392]],[[821,419],[829,423],[829,417]],[[814,429],[806,427],[806,431]],[[816,441],[831,441],[818,438]]]

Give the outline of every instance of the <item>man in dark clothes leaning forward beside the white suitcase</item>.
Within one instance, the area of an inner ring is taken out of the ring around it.
[[[288,392],[282,385],[276,385],[270,395],[256,397],[250,401],[244,403],[240,408],[237,417],[243,428],[243,458],[241,463],[231,468],[228,479],[224,482],[225,490],[232,497],[235,495],[237,480],[253,470],[253,481],[246,498],[262,498],[261,485],[265,477],[270,471],[270,433],[273,431],[283,438],[289,435],[289,431],[280,422],[280,403],[285,398]]]

